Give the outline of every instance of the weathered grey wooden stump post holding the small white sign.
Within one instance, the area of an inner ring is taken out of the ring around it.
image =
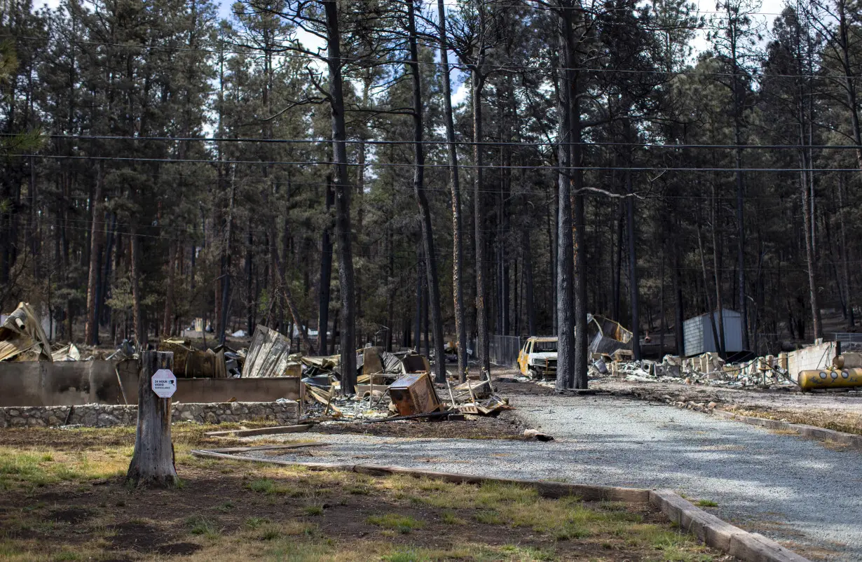
[[[171,398],[159,398],[151,385],[159,369],[173,370],[172,351],[141,353],[138,383],[138,426],[134,434],[134,454],[126,481],[138,486],[177,484],[171,442]]]

